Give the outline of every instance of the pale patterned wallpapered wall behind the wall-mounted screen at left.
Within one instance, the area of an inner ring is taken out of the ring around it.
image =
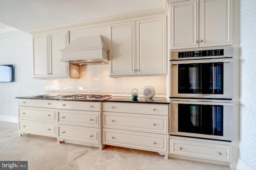
[[[22,31],[0,33],[0,64],[14,64],[14,82],[0,82],[0,115],[17,117],[17,96],[43,94],[45,80],[33,75],[32,37]]]

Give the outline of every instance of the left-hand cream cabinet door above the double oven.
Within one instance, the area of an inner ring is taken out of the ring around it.
[[[198,47],[198,6],[198,0],[170,4],[170,49]]]

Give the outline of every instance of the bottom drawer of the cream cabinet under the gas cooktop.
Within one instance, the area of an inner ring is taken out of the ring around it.
[[[70,125],[57,125],[57,128],[58,140],[66,139],[101,144],[101,129]]]

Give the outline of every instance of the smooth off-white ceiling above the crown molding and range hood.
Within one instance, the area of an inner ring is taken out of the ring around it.
[[[163,9],[166,0],[1,0],[0,29],[22,31]]]

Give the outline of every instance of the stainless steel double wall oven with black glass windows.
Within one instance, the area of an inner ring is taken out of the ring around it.
[[[232,141],[233,47],[171,51],[170,135]]]

